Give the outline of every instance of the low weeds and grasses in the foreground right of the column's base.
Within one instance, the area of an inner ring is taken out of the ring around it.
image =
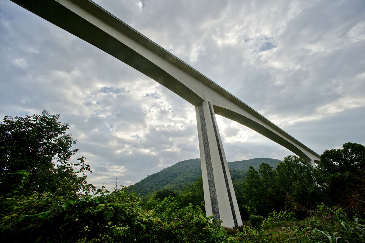
[[[361,243],[365,242],[365,224],[364,219],[350,219],[341,208],[321,204],[301,221],[292,212],[272,212],[260,226],[244,226],[227,242]]]

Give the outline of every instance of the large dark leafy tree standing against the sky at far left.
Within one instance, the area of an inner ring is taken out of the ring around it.
[[[69,125],[58,120],[59,114],[46,110],[41,115],[4,116],[0,122],[0,195],[15,189],[54,191],[62,179],[73,175],[68,160],[77,151],[72,149],[76,140],[66,134]]]

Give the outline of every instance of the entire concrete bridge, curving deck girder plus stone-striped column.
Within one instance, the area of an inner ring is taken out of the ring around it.
[[[315,166],[319,154],[90,0],[12,0],[154,79],[196,107],[205,211],[242,225],[215,114],[270,138]]]

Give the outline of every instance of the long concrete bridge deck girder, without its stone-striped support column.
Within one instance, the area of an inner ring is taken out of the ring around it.
[[[12,1],[142,72],[192,105],[209,97],[216,114],[261,133],[313,166],[319,160],[319,154],[92,1]]]

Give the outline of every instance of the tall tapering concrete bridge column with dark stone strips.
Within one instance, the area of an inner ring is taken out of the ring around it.
[[[242,225],[231,175],[219,135],[213,106],[204,101],[195,107],[198,125],[205,213],[225,227]]]

